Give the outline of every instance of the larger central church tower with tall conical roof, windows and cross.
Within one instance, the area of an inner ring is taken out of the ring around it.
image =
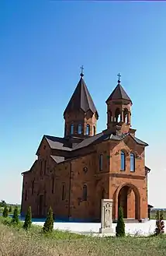
[[[64,137],[84,139],[96,134],[99,114],[83,79],[83,66],[81,66],[80,76],[78,86],[64,110]]]

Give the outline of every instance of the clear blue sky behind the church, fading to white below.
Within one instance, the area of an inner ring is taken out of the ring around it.
[[[165,207],[166,2],[0,2],[0,199],[20,202],[43,134],[64,135],[63,111],[85,66],[106,127],[117,83],[133,100],[132,127],[146,150],[149,202]]]

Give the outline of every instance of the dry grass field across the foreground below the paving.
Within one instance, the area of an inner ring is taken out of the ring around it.
[[[50,236],[5,226],[0,220],[0,256],[161,256],[166,255],[165,237],[94,238],[55,230]]]

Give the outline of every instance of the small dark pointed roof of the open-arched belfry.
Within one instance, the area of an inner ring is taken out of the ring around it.
[[[120,84],[118,84],[116,88],[112,91],[106,102],[109,100],[129,100],[132,103],[130,97],[126,94],[125,90]]]

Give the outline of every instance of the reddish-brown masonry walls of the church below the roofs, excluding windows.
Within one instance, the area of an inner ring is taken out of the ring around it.
[[[46,147],[44,147],[46,146]],[[120,150],[126,153],[126,170],[120,170]],[[89,152],[89,148],[81,150]],[[102,142],[91,146],[92,153],[80,156],[76,160],[67,160],[56,164],[50,157],[50,148],[46,141],[40,146],[39,160],[32,170],[24,174],[22,191],[22,212],[31,205],[33,216],[38,216],[39,197],[44,196],[43,215],[46,216],[50,205],[54,215],[67,219],[99,219],[101,199],[113,199],[113,218],[117,218],[119,189],[126,185],[132,188],[128,198],[128,218],[134,218],[135,208],[139,218],[147,218],[147,177],[145,176],[144,148],[138,146],[132,138],[123,142]],[[130,173],[130,151],[136,153],[136,170]],[[99,155],[103,155],[102,170],[99,170]],[[47,171],[41,175],[41,161],[47,160]],[[88,171],[84,172],[84,167]],[[54,179],[54,191],[53,191]],[[32,182],[34,190],[32,195]],[[65,198],[62,189],[65,184]],[[87,185],[88,198],[82,201],[83,186]],[[25,194],[27,200],[25,201]],[[135,205],[135,201],[137,204]]]

